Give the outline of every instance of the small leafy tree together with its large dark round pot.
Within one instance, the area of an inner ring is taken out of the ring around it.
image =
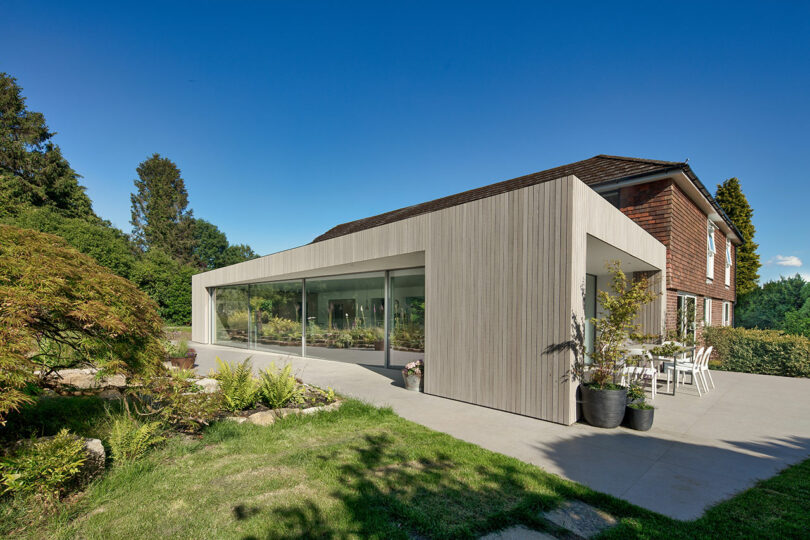
[[[595,340],[590,365],[582,373],[583,379],[588,378],[582,384],[582,415],[592,426],[615,428],[622,423],[627,407],[627,388],[620,384],[626,343],[631,333],[638,332],[639,309],[652,302],[655,294],[648,290],[646,278],[630,283],[618,261],[608,264],[608,272],[612,292],[597,292],[604,315],[591,319]]]

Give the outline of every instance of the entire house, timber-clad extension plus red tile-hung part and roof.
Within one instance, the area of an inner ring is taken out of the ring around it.
[[[706,308],[731,322],[738,242],[688,165],[597,156],[198,274],[193,339],[282,360],[424,358],[427,393],[570,424],[577,382],[561,345],[593,339],[582,321],[607,262],[652,278],[644,331],[699,334]]]

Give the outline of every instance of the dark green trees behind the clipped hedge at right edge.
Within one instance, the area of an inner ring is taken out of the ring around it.
[[[801,319],[810,312],[810,306],[805,308],[808,299],[810,284],[799,274],[769,281],[739,297],[734,311],[736,325],[744,328],[788,330],[785,327],[787,316],[788,313],[793,313],[791,329],[800,329],[803,326]]]

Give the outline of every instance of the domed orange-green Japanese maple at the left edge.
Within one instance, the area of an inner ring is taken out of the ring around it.
[[[155,303],[58,236],[0,225],[0,298],[0,421],[35,369],[150,373],[165,356]]]

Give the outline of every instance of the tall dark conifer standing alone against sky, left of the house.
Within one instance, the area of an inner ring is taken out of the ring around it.
[[[153,154],[138,165],[132,202],[135,243],[146,251],[158,248],[181,262],[191,262],[193,229],[188,192],[180,169]]]

